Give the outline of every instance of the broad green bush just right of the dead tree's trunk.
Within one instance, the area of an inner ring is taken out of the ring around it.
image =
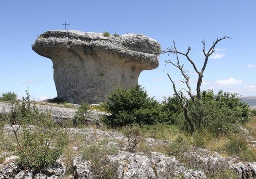
[[[188,115],[196,130],[206,128],[218,134],[237,130],[237,123],[249,121],[249,111],[237,94],[219,91],[214,95],[212,90],[208,90],[202,93],[202,100],[190,102]]]

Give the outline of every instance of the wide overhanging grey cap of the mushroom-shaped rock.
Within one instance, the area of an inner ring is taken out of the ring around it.
[[[46,31],[32,44],[32,49],[50,59],[59,51],[75,51],[77,55],[105,56],[108,54],[118,57],[124,63],[133,59],[137,65],[144,67],[142,70],[157,68],[158,55],[161,52],[161,46],[157,41],[141,34],[129,33],[115,37],[104,36],[103,33],[74,30]]]

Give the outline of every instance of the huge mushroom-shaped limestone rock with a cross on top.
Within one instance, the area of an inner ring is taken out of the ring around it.
[[[157,68],[161,52],[141,34],[81,31],[46,31],[32,49],[52,60],[57,97],[78,104],[103,102],[115,85],[134,87],[143,70]]]

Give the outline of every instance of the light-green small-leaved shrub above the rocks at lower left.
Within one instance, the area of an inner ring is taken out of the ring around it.
[[[52,127],[41,126],[36,130],[23,128],[21,146],[14,150],[19,157],[16,164],[21,169],[39,170],[44,166],[52,166],[60,157],[67,137],[60,129]]]

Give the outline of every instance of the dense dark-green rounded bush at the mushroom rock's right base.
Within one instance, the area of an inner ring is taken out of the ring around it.
[[[161,105],[148,97],[146,91],[137,85],[131,89],[116,87],[104,106],[112,115],[105,117],[103,122],[112,127],[137,124],[154,124],[162,121]]]

